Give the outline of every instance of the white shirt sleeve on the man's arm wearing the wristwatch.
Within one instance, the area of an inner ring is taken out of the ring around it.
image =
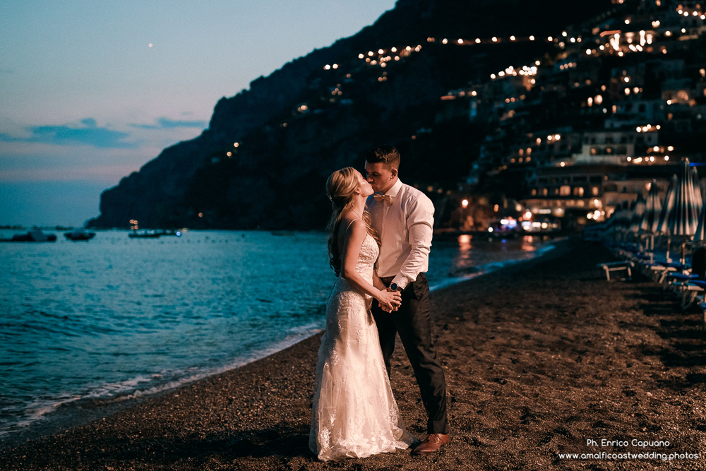
[[[409,256],[402,263],[393,282],[404,289],[410,282],[417,280],[419,273],[429,269],[429,252],[434,225],[434,206],[426,197],[419,197],[410,205],[407,217],[408,243],[411,246]]]

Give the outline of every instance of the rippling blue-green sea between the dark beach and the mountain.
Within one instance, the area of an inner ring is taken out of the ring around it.
[[[323,232],[54,233],[0,244],[0,441],[237,368],[325,327],[335,275]],[[553,247],[527,236],[439,240],[427,278],[437,290]]]

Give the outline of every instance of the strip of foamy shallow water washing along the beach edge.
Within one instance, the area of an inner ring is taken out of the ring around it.
[[[486,263],[485,265],[476,267],[477,271],[470,275],[445,278],[439,282],[431,284],[430,292],[443,290],[447,287],[457,285],[458,283],[467,282],[469,280],[474,280],[475,278],[488,275],[489,273],[494,273],[498,270],[507,269],[512,266],[533,261],[537,258],[542,258],[542,256],[546,253],[553,250],[556,247],[556,244],[561,243],[564,240],[566,240],[566,237],[547,240],[544,242],[544,246],[537,249],[537,253],[533,254],[531,258],[513,258],[506,261]],[[176,390],[183,386],[188,386],[191,383],[203,381],[210,376],[215,376],[225,371],[241,368],[242,366],[266,358],[271,354],[280,352],[281,350],[286,350],[287,347],[291,347],[298,342],[302,342],[323,332],[321,329],[309,330],[316,330],[316,332],[306,333],[304,335],[291,335],[290,338],[277,342],[277,344],[265,348],[264,350],[251,352],[251,354],[245,355],[244,357],[236,359],[223,366],[198,374],[195,378],[181,378],[171,383],[164,383],[162,385],[155,386],[149,390],[136,390],[134,393],[115,395],[111,398],[89,398],[88,396],[79,395],[75,398],[56,398],[54,400],[44,400],[43,407],[37,408],[38,417],[28,419],[31,420],[31,422],[23,427],[23,429],[0,434],[0,450],[11,446],[18,446],[20,443],[23,443],[28,439],[39,439],[42,436],[50,436],[58,433],[59,431],[65,431],[66,429],[73,429],[75,427],[83,426],[94,421],[95,419],[101,419],[106,415],[112,415],[126,407],[132,407],[133,405],[136,405],[148,398],[158,397],[165,393],[169,393],[169,391]],[[150,392],[150,390],[152,392]],[[47,410],[49,410],[49,412],[47,412]]]

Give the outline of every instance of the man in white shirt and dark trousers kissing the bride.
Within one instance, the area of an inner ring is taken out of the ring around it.
[[[377,273],[388,290],[402,293],[402,306],[391,313],[373,306],[380,347],[390,376],[395,335],[400,334],[429,416],[429,436],[414,453],[433,453],[449,441],[446,381],[431,338],[429,268],[434,207],[424,193],[397,178],[400,153],[381,145],[365,157],[366,178],[376,193],[368,198],[371,225],[381,239]]]

